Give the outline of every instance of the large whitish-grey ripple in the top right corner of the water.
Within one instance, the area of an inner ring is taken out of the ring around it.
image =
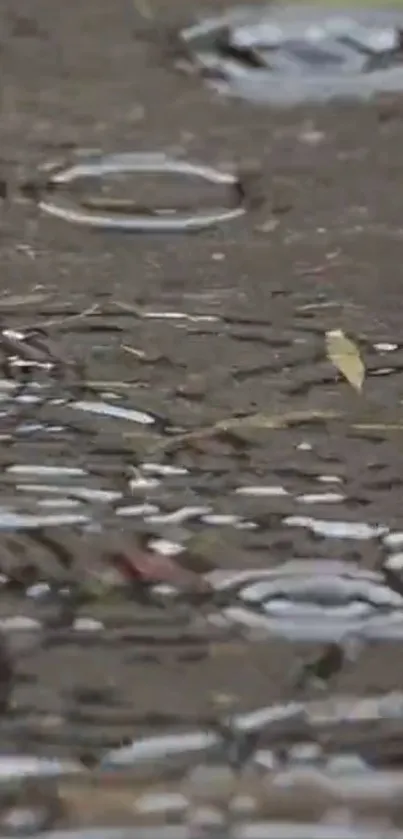
[[[182,29],[186,57],[219,93],[293,106],[403,88],[398,9],[270,6]]]

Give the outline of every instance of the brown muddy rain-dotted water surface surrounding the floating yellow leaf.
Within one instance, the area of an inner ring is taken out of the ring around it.
[[[1,835],[398,839],[403,100],[221,98],[164,36],[199,12],[0,9]],[[83,149],[231,218],[52,217]]]

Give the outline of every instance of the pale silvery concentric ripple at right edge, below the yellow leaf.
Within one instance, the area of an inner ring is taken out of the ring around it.
[[[251,631],[293,642],[403,637],[402,595],[381,574],[347,562],[291,560],[270,571],[213,571],[208,579],[228,598],[225,619]]]

